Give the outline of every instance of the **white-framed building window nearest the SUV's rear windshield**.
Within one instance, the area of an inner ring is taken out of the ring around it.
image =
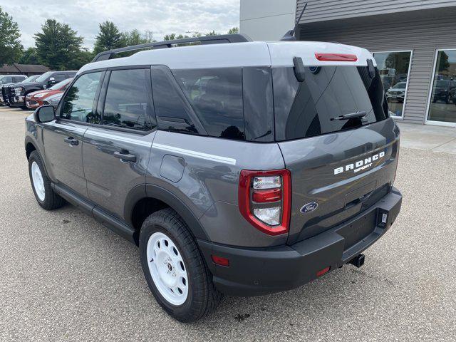
[[[412,51],[375,52],[378,72],[385,89],[390,115],[402,118],[407,97]]]

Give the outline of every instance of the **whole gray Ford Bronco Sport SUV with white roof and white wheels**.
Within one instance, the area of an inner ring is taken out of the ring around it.
[[[180,321],[222,294],[361,266],[402,200],[399,130],[371,53],[197,40],[100,53],[56,110],[26,118],[38,204],[70,202],[137,244],[152,294]]]

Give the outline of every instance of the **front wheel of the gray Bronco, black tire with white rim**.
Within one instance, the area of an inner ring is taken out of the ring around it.
[[[41,157],[36,151],[31,152],[30,157],[28,157],[28,175],[36,202],[43,209],[57,209],[66,204],[65,199],[57,195],[52,189],[51,180],[46,175]]]

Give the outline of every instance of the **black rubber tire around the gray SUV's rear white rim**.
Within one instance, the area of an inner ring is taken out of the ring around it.
[[[147,260],[147,242],[155,232],[162,232],[176,245],[187,268],[188,295],[184,304],[174,306],[155,286]],[[158,304],[170,316],[181,322],[197,321],[217,308],[222,294],[212,283],[212,274],[199,251],[187,224],[174,210],[167,208],[151,214],[142,224],[140,232],[140,258],[145,279]]]

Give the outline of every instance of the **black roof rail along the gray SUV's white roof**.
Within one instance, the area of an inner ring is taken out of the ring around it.
[[[157,41],[155,43],[145,43],[140,45],[125,46],[125,48],[115,48],[114,50],[103,51],[95,56],[91,63],[106,61],[113,58],[116,53],[142,50],[144,48],[172,48],[173,45],[182,43],[200,42],[201,45],[222,44],[222,43],[244,43],[252,41],[249,36],[244,34],[223,34],[220,36],[201,36],[193,38],[175,39],[174,41]]]

